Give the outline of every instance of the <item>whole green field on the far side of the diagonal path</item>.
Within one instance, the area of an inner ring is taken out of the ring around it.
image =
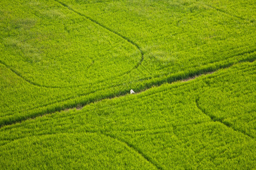
[[[252,9],[253,1],[1,1],[0,126],[254,61]]]

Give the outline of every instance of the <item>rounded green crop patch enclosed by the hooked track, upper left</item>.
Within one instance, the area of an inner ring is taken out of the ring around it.
[[[131,71],[141,53],[108,29],[54,2],[15,6],[2,14],[1,62],[29,82],[73,87]],[[42,10],[44,8],[45,10]]]

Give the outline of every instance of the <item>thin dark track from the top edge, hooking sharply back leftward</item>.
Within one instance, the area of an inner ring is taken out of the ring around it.
[[[100,27],[102,27],[102,28],[104,28],[104,29],[106,29],[106,30],[108,30],[108,31],[110,31],[110,32],[112,32],[112,33],[114,33],[115,35],[121,37],[122,39],[126,40],[127,42],[130,42],[131,44],[133,44],[133,45],[139,50],[139,52],[141,53],[141,60],[137,63],[137,65],[135,65],[135,66],[133,67],[133,69],[131,69],[131,70],[129,70],[129,71],[126,71],[126,72],[123,73],[123,74],[130,73],[132,70],[137,69],[137,68],[139,67],[139,65],[141,65],[141,63],[142,63],[142,61],[143,61],[143,59],[144,59],[144,53],[143,53],[141,47],[140,47],[137,43],[135,43],[134,41],[130,40],[129,38],[127,38],[127,37],[121,35],[121,33],[115,32],[113,29],[108,28],[108,27],[106,27],[105,25],[103,25],[103,24],[97,22],[96,20],[90,18],[89,16],[86,16],[86,15],[82,14],[81,12],[74,10],[73,8],[71,8],[70,6],[68,6],[67,4],[65,4],[65,3],[63,3],[63,2],[60,2],[60,1],[57,1],[57,0],[53,0],[53,1],[56,1],[56,2],[60,3],[61,5],[63,5],[64,7],[67,7],[69,10],[75,12],[76,14],[78,14],[78,15],[80,15],[80,16],[86,18],[86,19],[89,19],[91,22],[93,22],[93,23],[99,25]]]

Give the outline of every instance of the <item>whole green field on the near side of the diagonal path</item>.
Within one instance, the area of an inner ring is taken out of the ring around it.
[[[254,169],[255,75],[240,63],[2,127],[0,166]]]

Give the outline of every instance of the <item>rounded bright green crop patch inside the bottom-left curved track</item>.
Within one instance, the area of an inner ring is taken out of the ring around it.
[[[9,154],[16,157],[9,158]],[[26,137],[6,145],[6,150],[1,151],[1,155],[2,161],[5,162],[5,166],[1,167],[5,169],[114,169],[118,166],[154,169],[154,166],[148,164],[142,156],[130,151],[128,146],[95,133]],[[22,161],[24,158],[28,158],[29,161]]]

